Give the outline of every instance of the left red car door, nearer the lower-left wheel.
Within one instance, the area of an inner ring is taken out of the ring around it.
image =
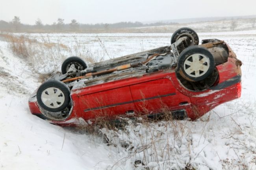
[[[82,95],[79,104],[85,119],[113,118],[135,109],[129,86]]]

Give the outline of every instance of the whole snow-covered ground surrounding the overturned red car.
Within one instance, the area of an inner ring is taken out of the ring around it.
[[[26,35],[70,48],[80,44],[90,55],[105,59],[169,45],[171,37],[166,33]],[[0,169],[179,170],[191,165],[196,170],[255,170],[256,31],[198,35],[225,40],[243,62],[241,98],[194,122],[130,122],[117,132],[102,129],[111,145],[95,134],[64,129],[31,115],[28,97],[40,85],[34,71],[48,72],[52,60],[41,56],[45,62],[35,68],[14,56],[0,37]],[[61,56],[75,55],[74,51]]]

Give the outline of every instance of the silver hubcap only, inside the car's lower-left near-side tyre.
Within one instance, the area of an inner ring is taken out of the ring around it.
[[[48,108],[59,108],[65,101],[65,95],[59,88],[46,88],[41,94],[41,100]]]

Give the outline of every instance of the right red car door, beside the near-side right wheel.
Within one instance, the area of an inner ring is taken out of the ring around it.
[[[142,114],[180,110],[184,103],[190,103],[189,97],[176,90],[168,78],[134,84],[130,89],[136,112]]]

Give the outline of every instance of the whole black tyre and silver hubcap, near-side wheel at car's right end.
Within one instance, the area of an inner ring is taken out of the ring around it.
[[[215,61],[207,48],[190,46],[180,53],[177,66],[176,73],[186,80],[196,82],[211,75]]]

